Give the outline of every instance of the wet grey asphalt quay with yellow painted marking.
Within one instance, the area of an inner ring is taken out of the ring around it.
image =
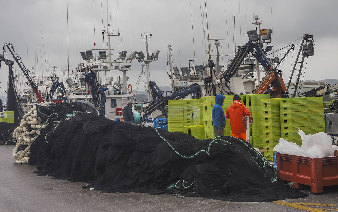
[[[225,202],[201,197],[149,195],[146,193],[100,193],[82,189],[85,182],[69,182],[37,176],[34,166],[15,164],[14,146],[0,146],[0,212],[11,211],[338,211],[338,186],[324,193],[279,203]]]

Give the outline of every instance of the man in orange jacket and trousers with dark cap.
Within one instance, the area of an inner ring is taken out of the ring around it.
[[[242,119],[244,116],[251,116],[251,113],[240,100],[241,97],[236,94],[232,105],[225,111],[225,117],[230,119],[233,137],[241,138],[246,141],[246,127],[244,126]]]

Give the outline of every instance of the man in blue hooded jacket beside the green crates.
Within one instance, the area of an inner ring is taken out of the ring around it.
[[[212,122],[214,125],[214,134],[215,137],[224,136],[224,126],[225,126],[225,116],[222,108],[224,96],[217,94],[215,97],[216,103],[212,108]]]

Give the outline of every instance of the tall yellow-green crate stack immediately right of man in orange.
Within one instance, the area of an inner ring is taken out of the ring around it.
[[[253,147],[263,148],[263,113],[262,99],[269,99],[270,94],[246,95],[246,106],[249,108],[254,122],[249,129],[250,144]]]

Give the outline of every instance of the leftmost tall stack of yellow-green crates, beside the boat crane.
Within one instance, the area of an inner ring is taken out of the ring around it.
[[[168,131],[184,132],[183,100],[168,100]]]

